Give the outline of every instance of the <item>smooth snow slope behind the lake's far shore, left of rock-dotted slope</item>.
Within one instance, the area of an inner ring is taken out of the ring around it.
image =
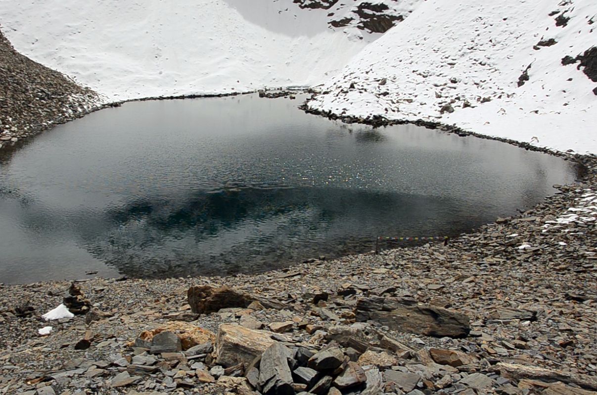
[[[419,1],[378,2],[406,15]],[[333,28],[330,14],[350,8],[331,3],[2,0],[0,23],[24,55],[121,100],[321,82],[379,36]]]

